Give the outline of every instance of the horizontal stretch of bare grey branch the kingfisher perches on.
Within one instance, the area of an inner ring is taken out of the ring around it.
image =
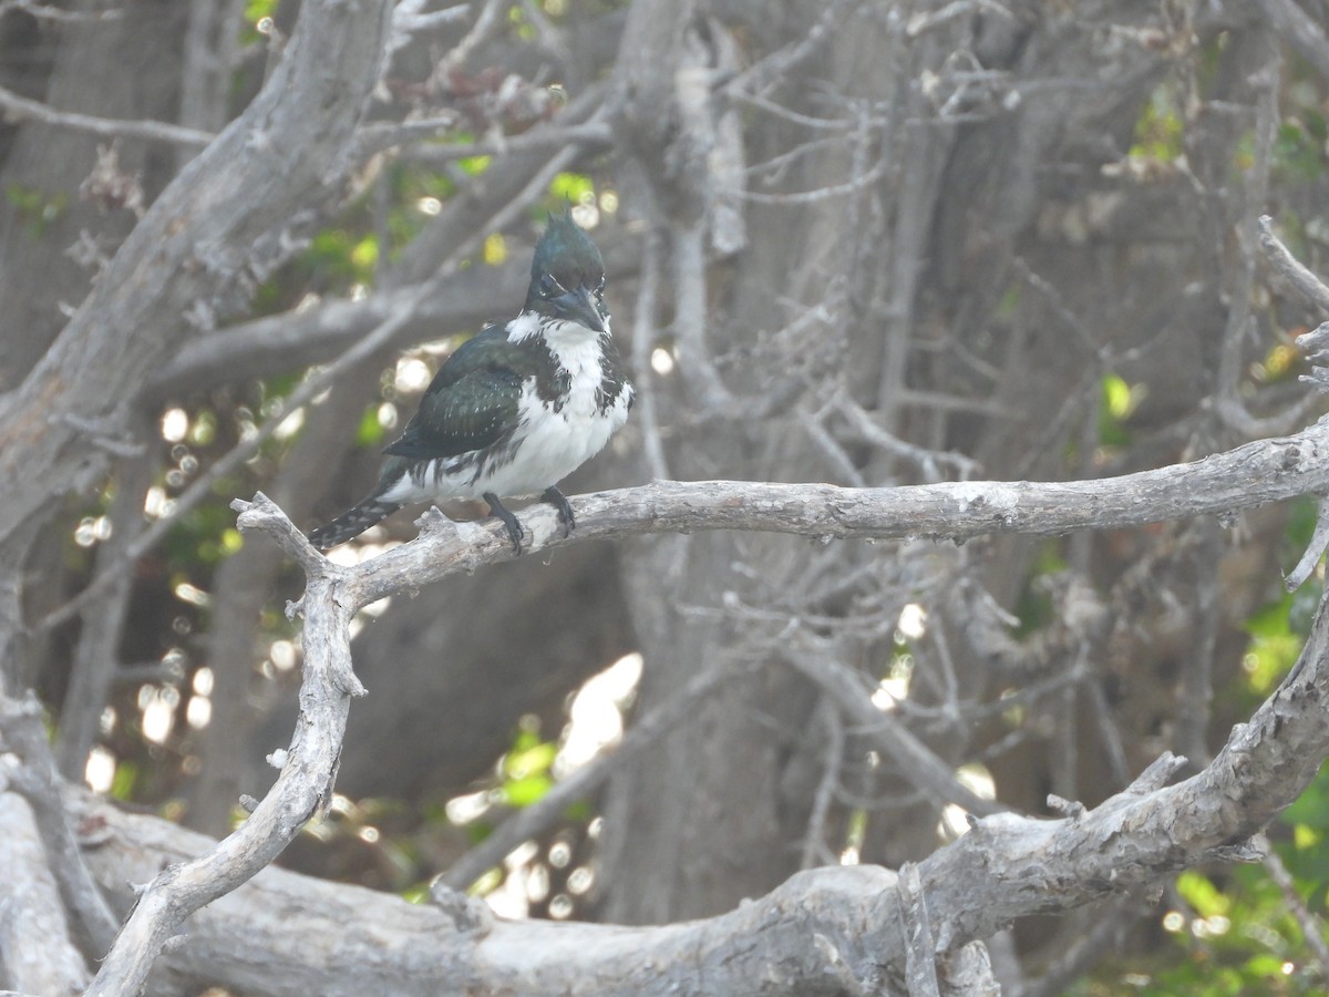
[[[1241,509],[1329,489],[1329,423],[1249,443],[1189,464],[1090,481],[961,481],[906,488],[837,488],[762,481],[654,481],[575,501],[573,540],[711,529],[768,530],[825,540],[990,533],[1047,536],[1115,529]],[[528,550],[565,541],[548,506],[521,514]],[[358,606],[512,556],[500,526],[425,532],[351,569]]]

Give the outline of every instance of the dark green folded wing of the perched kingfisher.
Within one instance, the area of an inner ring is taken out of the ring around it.
[[[488,350],[465,346],[435,375],[420,411],[384,453],[416,460],[455,457],[489,447],[516,427],[522,374],[508,363],[509,351],[493,340]]]

